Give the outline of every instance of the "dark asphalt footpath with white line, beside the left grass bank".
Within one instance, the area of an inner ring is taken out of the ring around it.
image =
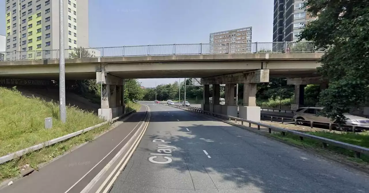
[[[57,158],[30,175],[0,189],[0,193],[78,193],[98,174],[137,131],[145,106],[116,128]]]

